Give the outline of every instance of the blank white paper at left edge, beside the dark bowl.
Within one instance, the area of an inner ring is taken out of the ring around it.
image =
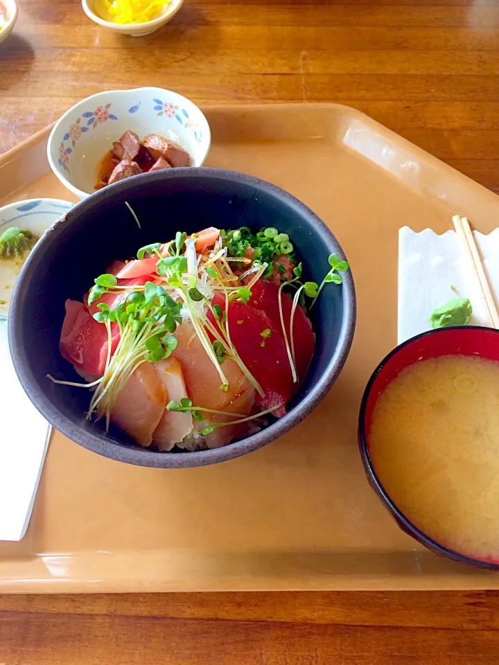
[[[31,404],[0,321],[0,540],[21,540],[33,510],[51,427]]]

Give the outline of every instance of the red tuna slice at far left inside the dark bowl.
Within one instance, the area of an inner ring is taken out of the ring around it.
[[[119,337],[112,337],[111,353]],[[78,369],[102,376],[107,358],[107,329],[91,317],[83,303],[66,301],[66,317],[59,342],[62,357]]]

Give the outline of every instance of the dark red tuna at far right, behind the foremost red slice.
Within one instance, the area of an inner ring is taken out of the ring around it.
[[[279,287],[260,279],[252,286],[251,290],[252,297],[249,302],[256,308],[263,310],[274,324],[274,327],[283,335],[281,317],[279,315]],[[288,294],[282,292],[281,303],[286,334],[288,335],[288,342],[291,344],[290,323],[292,299]],[[299,381],[301,381],[306,374],[310,360],[312,360],[315,337],[312,324],[299,305],[295,309],[295,316],[293,318],[293,343],[295,345],[297,375]]]

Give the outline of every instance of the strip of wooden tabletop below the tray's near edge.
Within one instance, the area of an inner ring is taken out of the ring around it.
[[[8,665],[496,665],[499,593],[1,596]]]

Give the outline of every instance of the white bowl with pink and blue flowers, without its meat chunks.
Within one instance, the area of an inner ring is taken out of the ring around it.
[[[101,159],[126,130],[139,139],[159,134],[175,141],[191,155],[191,166],[202,166],[211,145],[207,119],[189,99],[161,88],[110,90],[78,102],[55,123],[47,146],[51,169],[85,199],[95,191]]]

